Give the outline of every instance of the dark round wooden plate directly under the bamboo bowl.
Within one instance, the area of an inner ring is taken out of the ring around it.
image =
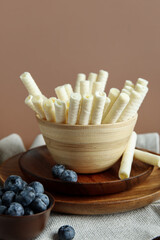
[[[53,177],[51,169],[56,163],[46,146],[25,152],[20,157],[19,164],[28,181],[40,181],[47,191],[80,196],[105,195],[128,190],[143,182],[153,170],[151,165],[134,159],[131,177],[120,180],[118,178],[120,161],[118,161],[107,171],[97,174],[78,174],[78,182],[64,182]]]

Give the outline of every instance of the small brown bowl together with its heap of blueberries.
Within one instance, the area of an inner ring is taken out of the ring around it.
[[[54,203],[40,182],[9,176],[0,187],[0,239],[33,239],[45,228]]]

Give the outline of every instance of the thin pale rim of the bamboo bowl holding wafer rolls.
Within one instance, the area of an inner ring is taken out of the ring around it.
[[[36,115],[35,115],[36,116]],[[133,122],[134,120],[137,120],[138,118],[138,113],[136,113],[133,117],[131,117],[130,119],[126,120],[126,121],[122,121],[122,122],[116,122],[116,123],[106,123],[106,124],[99,124],[99,125],[79,125],[79,124],[75,124],[75,125],[70,125],[70,124],[66,124],[66,123],[56,123],[56,122],[50,122],[47,121],[45,119],[40,119],[36,116],[36,119],[38,121],[38,123],[42,123],[42,124],[46,124],[48,126],[55,126],[58,128],[67,128],[67,129],[86,129],[86,128],[110,128],[110,127],[121,127],[121,126],[126,126],[129,125],[131,122]]]

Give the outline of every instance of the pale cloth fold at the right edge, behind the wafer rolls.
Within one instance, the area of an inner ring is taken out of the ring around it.
[[[159,153],[159,134],[144,133],[137,135],[136,147]]]

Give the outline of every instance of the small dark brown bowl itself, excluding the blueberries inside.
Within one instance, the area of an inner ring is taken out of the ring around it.
[[[46,211],[21,217],[0,215],[1,240],[29,240],[43,231],[55,204],[53,196],[48,192],[45,194],[50,200]]]

